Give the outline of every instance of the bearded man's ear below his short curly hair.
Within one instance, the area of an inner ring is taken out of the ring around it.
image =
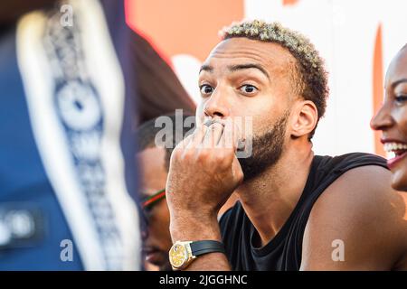
[[[314,102],[301,100],[294,106],[291,122],[291,135],[300,137],[308,135],[317,126],[318,110]]]

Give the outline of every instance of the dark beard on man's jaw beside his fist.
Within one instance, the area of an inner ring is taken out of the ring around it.
[[[244,181],[251,180],[279,161],[284,144],[289,112],[280,117],[264,135],[254,136],[252,152],[248,158],[239,158]]]

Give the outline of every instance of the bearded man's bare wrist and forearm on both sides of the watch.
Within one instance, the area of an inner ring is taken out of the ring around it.
[[[222,242],[221,231],[215,218],[192,219],[177,216],[171,218],[171,237],[175,241],[216,240]],[[198,256],[185,270],[191,271],[229,271],[227,257],[222,253],[209,253]]]

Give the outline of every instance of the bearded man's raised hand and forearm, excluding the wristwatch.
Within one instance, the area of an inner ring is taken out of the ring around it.
[[[232,120],[216,121],[175,147],[166,182],[173,241],[222,239],[217,213],[243,180],[235,156],[238,135]],[[216,269],[204,262],[211,259],[218,269],[229,268],[225,256],[212,253],[194,261],[194,269]]]

